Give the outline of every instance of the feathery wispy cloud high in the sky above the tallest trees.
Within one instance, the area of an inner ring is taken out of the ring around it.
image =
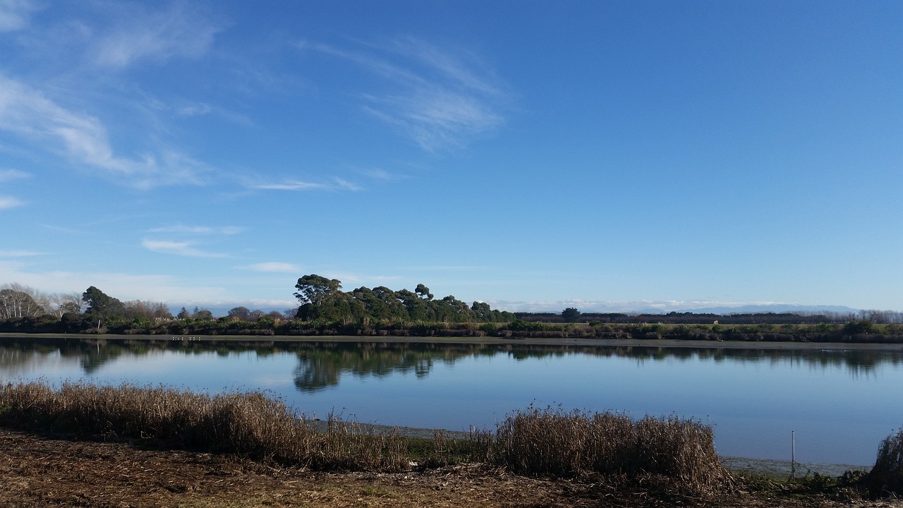
[[[352,61],[382,78],[388,89],[362,91],[362,108],[424,150],[465,145],[504,123],[500,109],[506,94],[472,55],[412,37],[370,44],[359,52],[326,44],[300,47]]]

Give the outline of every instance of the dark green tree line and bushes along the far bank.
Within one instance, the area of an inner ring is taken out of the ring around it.
[[[485,302],[470,305],[454,296],[435,298],[418,284],[414,291],[358,287],[311,274],[298,278],[299,306],[265,312],[237,306],[215,317],[209,310],[182,307],[173,316],[163,302],[121,301],[98,287],[83,293],[46,294],[19,284],[0,286],[0,332],[238,335],[414,335],[507,338],[641,338],[740,341],[899,342],[903,313],[861,311],[859,315],[752,314],[665,315],[510,313]]]

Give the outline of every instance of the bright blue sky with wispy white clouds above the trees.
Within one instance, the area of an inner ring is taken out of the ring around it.
[[[903,309],[903,3],[0,0],[0,284]]]

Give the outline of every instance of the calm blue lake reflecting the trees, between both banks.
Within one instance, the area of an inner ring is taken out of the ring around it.
[[[826,346],[827,347],[827,346]],[[547,406],[699,419],[722,456],[870,466],[903,425],[903,352],[0,339],[0,379],[265,390],[298,412],[494,429]]]

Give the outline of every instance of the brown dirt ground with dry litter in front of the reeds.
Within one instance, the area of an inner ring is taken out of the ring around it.
[[[636,489],[634,489],[636,490]],[[590,480],[543,480],[487,466],[398,474],[311,473],[237,457],[70,441],[0,429],[0,506],[88,507],[903,507],[779,489],[717,500],[665,498]]]

